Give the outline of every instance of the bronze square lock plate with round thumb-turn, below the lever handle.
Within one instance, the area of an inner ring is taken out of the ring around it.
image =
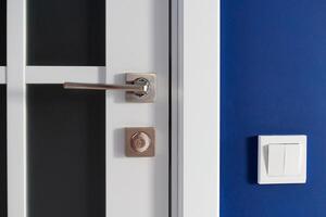
[[[125,128],[126,156],[149,157],[155,155],[155,128]]]

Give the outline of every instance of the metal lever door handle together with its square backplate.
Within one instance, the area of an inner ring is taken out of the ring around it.
[[[149,103],[155,101],[156,75],[128,73],[125,85],[64,82],[63,87],[65,89],[122,90],[126,91],[127,102]]]

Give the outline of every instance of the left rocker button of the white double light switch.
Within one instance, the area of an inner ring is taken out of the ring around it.
[[[285,173],[285,145],[268,145],[268,176],[283,176]]]

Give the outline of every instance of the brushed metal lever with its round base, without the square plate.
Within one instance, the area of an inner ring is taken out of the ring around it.
[[[64,82],[65,89],[86,89],[86,90],[122,90],[130,91],[134,94],[146,95],[150,89],[150,81],[139,77],[131,85],[106,85],[106,84],[87,84],[87,82]]]

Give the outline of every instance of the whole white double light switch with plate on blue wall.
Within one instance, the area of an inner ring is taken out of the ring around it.
[[[259,136],[258,182],[305,183],[306,136]]]

